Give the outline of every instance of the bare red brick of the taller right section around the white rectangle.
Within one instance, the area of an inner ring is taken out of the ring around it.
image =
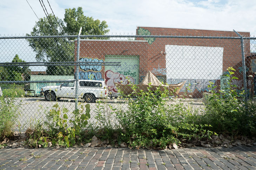
[[[139,27],[138,27],[139,28]],[[137,28],[137,29],[138,29]],[[237,37],[233,31],[215,31],[215,30],[197,30],[197,29],[176,29],[176,28],[157,28],[157,27],[141,27],[148,30],[151,35],[180,35],[180,36],[229,36]],[[138,31],[136,29],[136,34]],[[239,32],[244,37],[249,37],[249,32]],[[143,40],[144,38],[137,38],[137,40]],[[250,42],[244,42],[245,54],[250,53]],[[148,45],[148,69],[152,71],[152,68],[159,66],[165,68],[166,61],[165,55],[160,55],[160,51],[165,50],[165,45],[188,45],[188,46],[209,46],[209,47],[223,47],[223,72],[227,71],[228,67],[234,67],[236,69],[235,75],[242,80],[242,73],[239,72],[239,67],[242,67],[242,54],[241,54],[241,42],[240,39],[198,39],[198,38],[155,38],[152,44]],[[246,57],[246,56],[245,56]],[[156,58],[154,62],[150,60]],[[168,62],[168,61],[167,61]],[[171,62],[171,61],[170,61]],[[220,85],[220,81],[217,81],[217,86]],[[243,87],[243,86],[242,86]],[[205,92],[205,91],[204,91]],[[195,89],[192,94],[193,97],[202,97],[202,91],[199,93]]]

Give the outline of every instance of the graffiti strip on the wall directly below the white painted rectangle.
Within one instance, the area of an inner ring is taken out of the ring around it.
[[[181,91],[186,91],[186,87],[188,92],[194,92],[195,89],[198,91],[209,91],[208,85],[210,82],[216,83],[216,80],[208,80],[208,79],[167,79],[168,84],[177,84],[186,81],[185,86],[181,89]]]

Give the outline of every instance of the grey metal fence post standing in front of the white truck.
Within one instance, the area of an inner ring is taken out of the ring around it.
[[[78,75],[79,75],[79,65],[78,65],[78,61],[79,61],[79,52],[80,52],[80,34],[82,31],[82,27],[79,30],[79,34],[78,34],[78,46],[76,49],[76,62],[77,64],[75,65],[76,67],[76,71],[75,71],[75,109],[78,108]]]

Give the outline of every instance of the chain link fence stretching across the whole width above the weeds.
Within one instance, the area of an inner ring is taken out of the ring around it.
[[[238,77],[231,83],[246,92],[241,99],[255,97],[256,38],[248,32],[151,34],[139,27],[137,35],[0,36],[0,87],[3,97],[15,96],[17,125],[45,120],[56,102],[73,111],[79,101],[90,103],[94,124],[96,101],[111,116],[110,107],[128,107],[118,89],[129,95],[129,84],[147,90],[149,82],[153,91],[167,89],[168,104],[203,112],[208,85],[226,87],[228,67]]]

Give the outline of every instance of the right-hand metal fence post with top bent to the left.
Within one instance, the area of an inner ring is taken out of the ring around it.
[[[243,36],[240,35],[238,32],[233,30],[241,39],[241,53],[242,53],[242,66],[243,66],[243,83],[244,83],[244,100],[247,101],[247,81],[246,81],[246,66],[245,66],[245,58],[244,58],[244,39]]]

